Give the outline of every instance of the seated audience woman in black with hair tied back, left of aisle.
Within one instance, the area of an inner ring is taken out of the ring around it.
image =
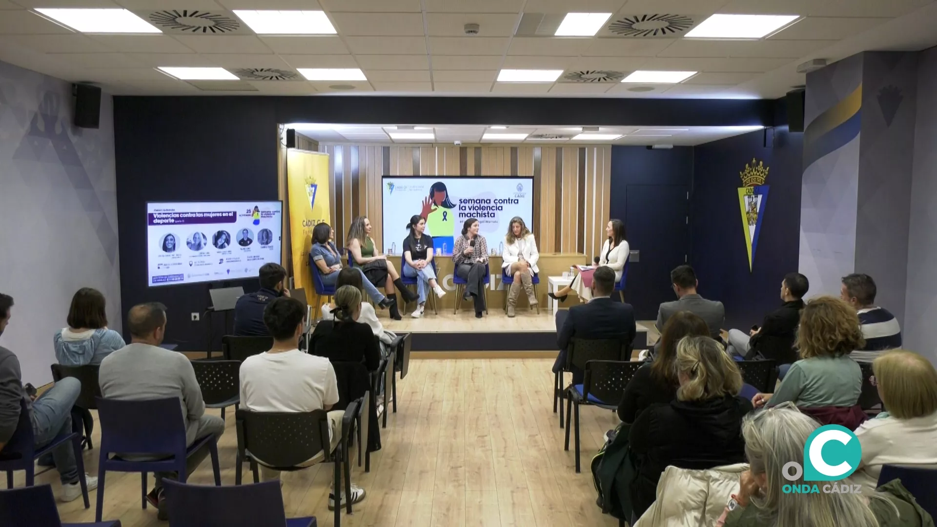
[[[316,324],[312,332],[310,353],[326,357],[333,362],[362,362],[369,371],[380,363],[378,339],[361,318],[361,290],[343,285],[335,292],[335,322]]]

